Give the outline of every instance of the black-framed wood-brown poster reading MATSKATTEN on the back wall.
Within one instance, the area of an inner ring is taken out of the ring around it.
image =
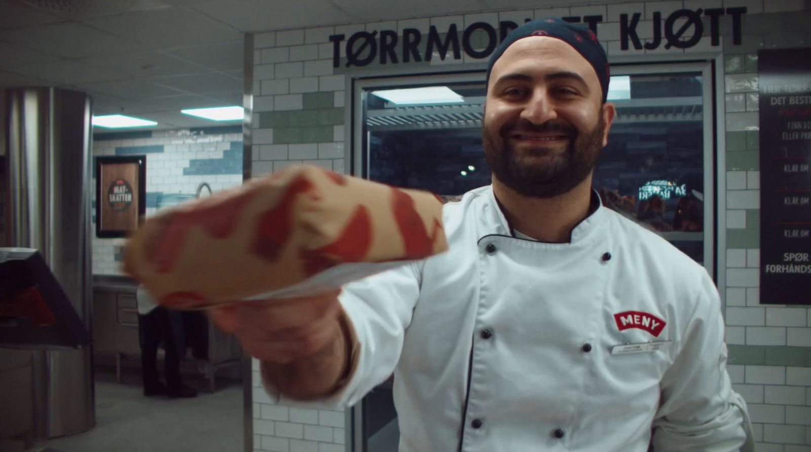
[[[96,237],[127,237],[146,213],[146,156],[96,159]]]

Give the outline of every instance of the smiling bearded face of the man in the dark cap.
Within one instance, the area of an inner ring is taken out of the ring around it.
[[[594,68],[564,41],[510,45],[487,85],[482,138],[494,177],[535,198],[590,183],[614,117],[602,99]]]

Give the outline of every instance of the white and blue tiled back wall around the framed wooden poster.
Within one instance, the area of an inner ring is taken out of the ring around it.
[[[100,135],[93,141],[93,156],[147,156],[146,216],[150,216],[157,211],[157,197],[163,194],[195,194],[201,182],[208,182],[212,191],[242,184],[242,133],[216,130],[155,130],[152,137],[137,139],[103,139]],[[95,187],[95,167],[93,173]],[[95,189],[91,197],[93,275],[121,275],[126,240],[96,237]]]

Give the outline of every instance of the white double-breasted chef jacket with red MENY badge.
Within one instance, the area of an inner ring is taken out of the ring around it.
[[[345,286],[358,365],[327,402],[394,373],[401,452],[742,446],[718,292],[691,258],[606,207],[569,243],[511,237],[490,186],[444,228],[444,254]]]

